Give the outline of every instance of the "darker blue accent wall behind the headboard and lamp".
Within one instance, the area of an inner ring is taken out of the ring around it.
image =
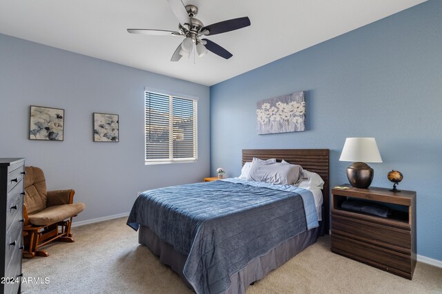
[[[346,137],[375,137],[373,186],[417,191],[418,254],[442,260],[442,1],[433,0],[211,87],[211,173],[238,176],[241,149],[329,148],[347,182]],[[276,44],[278,45],[278,44]],[[307,130],[256,134],[256,102],[307,91]]]

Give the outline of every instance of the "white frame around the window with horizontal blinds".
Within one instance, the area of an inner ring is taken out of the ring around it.
[[[147,140],[146,140],[146,94],[147,93],[160,94],[163,96],[169,96],[169,159],[166,158],[156,158],[156,159],[146,159],[146,149],[147,149]],[[195,138],[193,140],[195,150],[194,158],[171,158],[171,154],[173,154],[173,98],[180,98],[194,101],[193,103],[193,125],[194,125],[194,134]],[[189,96],[184,94],[178,94],[174,92],[164,91],[164,90],[156,90],[151,88],[144,88],[144,165],[168,165],[171,163],[189,163],[189,162],[197,162],[198,161],[198,97]]]

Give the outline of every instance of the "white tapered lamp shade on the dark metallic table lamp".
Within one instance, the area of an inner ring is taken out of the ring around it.
[[[374,138],[346,138],[340,161],[382,162]]]

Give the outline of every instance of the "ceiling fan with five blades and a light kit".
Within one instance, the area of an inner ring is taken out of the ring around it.
[[[150,34],[157,36],[184,36],[185,39],[178,45],[177,49],[172,55],[171,61],[179,61],[182,56],[189,58],[193,47],[195,46],[196,53],[202,57],[207,54],[207,50],[221,56],[224,59],[229,59],[233,56],[229,51],[222,48],[217,43],[209,39],[201,39],[202,36],[211,36],[213,34],[221,34],[222,32],[230,32],[238,30],[250,25],[249,17],[240,17],[238,19],[229,19],[228,21],[221,21],[211,25],[204,26],[199,19],[195,19],[198,14],[198,7],[194,5],[186,5],[181,0],[167,0],[169,6],[178,21],[178,32],[170,30],[151,30],[151,29],[128,29],[131,34]]]

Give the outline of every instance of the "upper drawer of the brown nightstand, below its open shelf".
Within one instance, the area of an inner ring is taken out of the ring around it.
[[[411,231],[383,224],[357,220],[332,212],[332,231],[344,231],[356,236],[374,239],[411,249]]]

